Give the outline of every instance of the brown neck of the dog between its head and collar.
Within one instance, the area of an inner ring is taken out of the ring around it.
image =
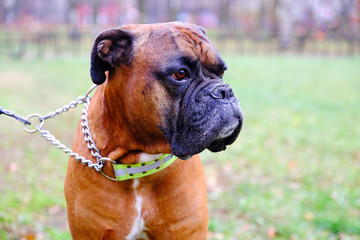
[[[91,134],[101,155],[124,164],[134,164],[152,161],[163,153],[171,153],[163,136],[146,136],[145,130],[139,132],[131,125],[126,117],[127,109],[118,99],[126,94],[107,94],[114,92],[106,91],[107,87],[112,86],[105,82],[98,87],[88,109]],[[100,102],[100,105],[91,104],[93,102]],[[93,106],[101,108],[95,109]],[[153,134],[159,134],[159,130]],[[154,142],[153,139],[160,141]]]

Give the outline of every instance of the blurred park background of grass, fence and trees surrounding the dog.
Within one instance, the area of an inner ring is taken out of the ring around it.
[[[54,111],[91,86],[102,30],[175,20],[206,28],[245,117],[202,153],[208,239],[360,239],[359,0],[0,0],[0,107]],[[71,146],[81,110],[44,128]],[[71,239],[67,159],[0,115],[0,240]]]

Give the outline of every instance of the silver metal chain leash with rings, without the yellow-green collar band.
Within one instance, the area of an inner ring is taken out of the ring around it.
[[[87,110],[90,105],[90,93],[97,87],[97,85],[93,85],[85,96],[78,97],[75,101],[70,102],[68,105],[64,105],[62,108],[57,109],[54,112],[50,112],[45,116],[41,114],[34,113],[29,115],[28,117],[24,118],[20,115],[15,114],[12,111],[6,110],[0,107],[0,114],[5,114],[7,116],[13,117],[16,120],[22,122],[24,124],[24,130],[28,133],[40,132],[41,136],[44,137],[47,141],[51,142],[51,144],[57,146],[58,149],[61,149],[64,153],[69,154],[71,157],[75,157],[76,161],[81,161],[83,165],[86,165],[90,168],[94,168],[96,171],[101,172],[102,168],[104,167],[104,161],[112,161],[107,157],[102,157],[100,155],[99,149],[96,147],[93,137],[90,133],[90,126],[89,121],[87,118]],[[84,109],[81,114],[81,126],[82,132],[84,133],[84,139],[87,142],[87,147],[89,148],[91,155],[96,158],[97,162],[93,163],[91,160],[88,160],[78,153],[74,153],[70,148],[66,147],[60,140],[56,139],[54,135],[52,135],[49,131],[43,129],[45,120],[50,118],[54,118],[57,115],[60,115],[64,112],[69,111],[72,108],[76,108],[79,104],[84,104]],[[27,125],[33,125],[31,119],[37,118],[39,123],[36,125],[34,129],[29,129]]]

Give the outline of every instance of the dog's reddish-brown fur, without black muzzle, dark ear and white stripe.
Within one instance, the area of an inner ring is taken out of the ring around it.
[[[166,58],[169,51],[164,53],[163,50],[173,45],[171,38],[161,45],[149,44],[153,36],[147,35],[148,30],[157,27],[163,26],[124,27],[135,32],[138,38],[131,66],[113,68],[89,106],[89,125],[101,155],[121,159],[122,163],[137,162],[140,152],[171,152],[158,128],[164,124],[161,113],[169,110],[166,103],[170,99],[163,86],[149,77],[149,71],[154,62],[158,62],[156,58]],[[194,30],[189,32],[190,29],[184,25],[178,31],[194,35]],[[207,50],[209,43],[195,42],[198,37],[194,35],[191,39],[177,38],[175,41],[179,51],[188,54],[192,54],[194,47],[199,47],[206,61],[212,64],[216,59],[212,56],[213,51]],[[73,151],[96,161],[86,146],[80,124]],[[104,172],[113,176],[109,162]],[[73,239],[125,239],[138,214],[135,194],[142,198],[141,217],[149,239],[206,239],[206,183],[198,155],[187,161],[178,159],[165,170],[140,178],[139,182],[133,189],[133,180],[110,181],[70,158],[65,197]]]

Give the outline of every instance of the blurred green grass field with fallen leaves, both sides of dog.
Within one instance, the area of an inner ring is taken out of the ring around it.
[[[360,239],[360,58],[224,55],[245,123],[202,154],[209,239]],[[88,56],[0,57],[0,106],[46,114],[91,86]],[[71,146],[81,107],[45,128]],[[0,116],[0,240],[71,239],[67,156]]]

